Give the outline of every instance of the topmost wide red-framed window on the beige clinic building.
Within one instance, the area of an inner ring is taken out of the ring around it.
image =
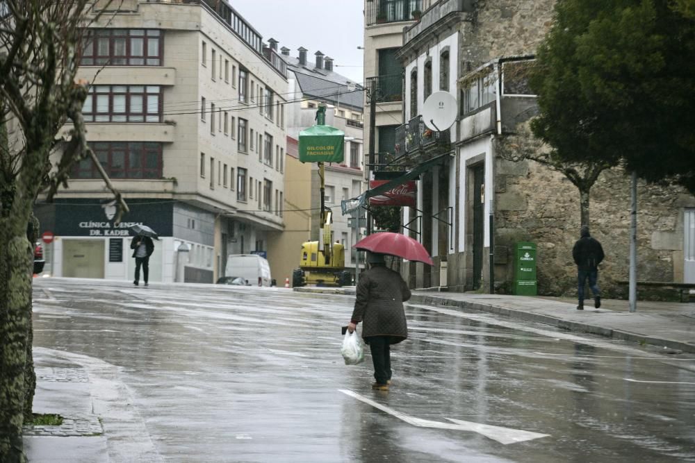
[[[83,38],[80,65],[161,66],[163,44],[156,29],[90,29]]]

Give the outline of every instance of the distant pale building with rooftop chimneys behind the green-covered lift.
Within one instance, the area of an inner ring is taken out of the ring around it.
[[[277,49],[278,42],[269,39],[270,47]],[[273,271],[290,275],[291,269],[298,266],[298,250],[303,242],[319,239],[320,224],[320,177],[316,163],[302,164],[298,153],[290,146],[296,144],[299,133],[316,124],[316,110],[319,103],[327,105],[326,124],[345,133],[345,158],[340,164],[325,164],[325,207],[332,214],[332,242],[345,246],[345,265],[354,268],[355,253],[352,244],[359,239],[359,233],[348,226],[347,217],[341,214],[341,201],[353,198],[363,191],[363,87],[359,83],[338,74],[334,70],[334,60],[321,51],[314,53],[315,60],[307,60],[307,50],[298,49],[297,56],[290,50],[281,48],[282,58],[288,69],[286,105],[286,133],[288,136],[287,164],[293,165],[286,172],[288,201],[286,215],[289,233],[279,234],[272,246],[286,258],[277,264]],[[290,186],[292,185],[292,186]],[[289,194],[289,190],[293,190]],[[295,211],[296,212],[291,212]],[[292,219],[295,217],[295,219]],[[308,217],[308,219],[306,219]],[[290,225],[290,223],[293,225]],[[301,226],[300,226],[301,224]]]

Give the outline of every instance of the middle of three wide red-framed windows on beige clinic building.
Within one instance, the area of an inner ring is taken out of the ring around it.
[[[92,85],[82,107],[86,122],[161,122],[159,85]]]

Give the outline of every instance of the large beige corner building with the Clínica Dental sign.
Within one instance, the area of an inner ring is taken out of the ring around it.
[[[272,262],[268,233],[284,227],[284,61],[225,1],[113,3],[89,26],[79,77],[92,83],[88,141],[130,211],[115,225],[97,169],[76,166],[70,189],[36,206],[56,235],[54,276],[131,280],[131,224],[159,235],[152,282],[213,283],[230,253]]]

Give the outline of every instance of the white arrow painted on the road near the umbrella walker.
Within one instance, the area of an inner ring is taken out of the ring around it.
[[[369,398],[357,394],[357,392],[352,392],[347,389],[338,389],[338,391],[357,398],[358,401],[362,401],[368,405],[371,405],[382,412],[386,412],[396,418],[405,421],[412,426],[418,426],[419,428],[439,428],[439,429],[451,429],[458,431],[471,431],[477,432],[480,435],[489,437],[501,444],[516,444],[516,442],[530,441],[532,439],[539,439],[540,437],[548,437],[549,434],[540,434],[539,432],[530,432],[517,430],[512,428],[502,428],[501,426],[490,426],[487,424],[473,423],[471,421],[461,421],[459,419],[447,418],[452,423],[442,423],[441,421],[432,421],[429,419],[416,418],[415,416],[409,416],[402,412],[393,410],[392,408],[386,407],[377,403]]]

